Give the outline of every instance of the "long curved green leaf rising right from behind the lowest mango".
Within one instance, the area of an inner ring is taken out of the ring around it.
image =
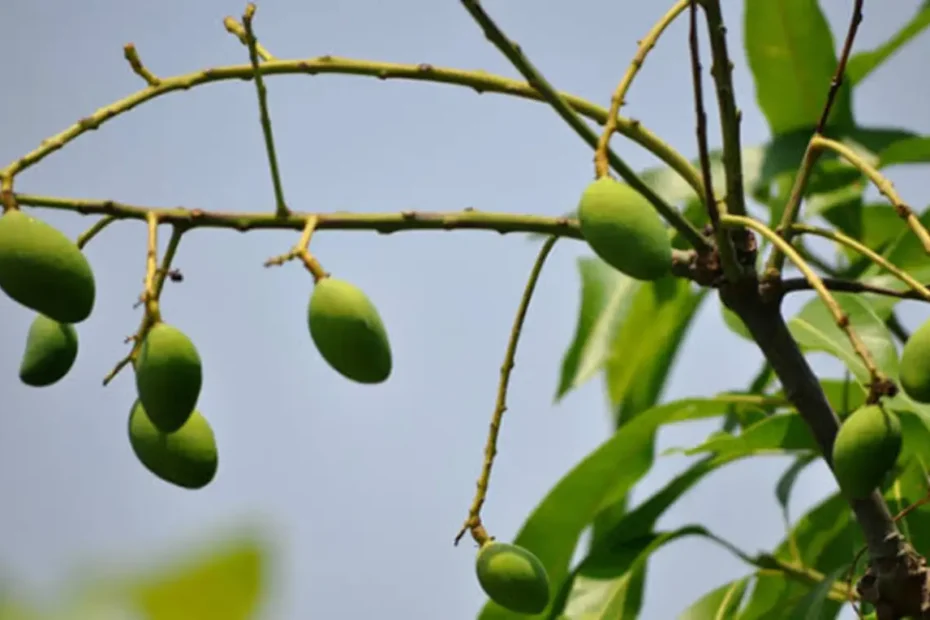
[[[523,524],[514,543],[540,559],[554,588],[559,588],[582,532],[606,507],[626,496],[652,466],[653,439],[659,427],[723,414],[727,399],[684,399],[636,416],[568,472]],[[526,618],[489,601],[480,620]]]

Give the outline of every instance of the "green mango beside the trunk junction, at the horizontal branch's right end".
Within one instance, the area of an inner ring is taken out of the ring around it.
[[[657,280],[672,267],[672,243],[659,214],[625,183],[603,176],[578,203],[581,235],[594,253],[637,280]]]

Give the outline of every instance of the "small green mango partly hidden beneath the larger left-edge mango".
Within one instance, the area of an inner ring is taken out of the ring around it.
[[[77,358],[77,330],[45,315],[36,315],[26,335],[19,378],[26,385],[45,387],[61,380]]]

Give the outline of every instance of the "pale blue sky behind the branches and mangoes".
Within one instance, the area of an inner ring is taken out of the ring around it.
[[[128,41],[165,76],[247,59],[222,26],[225,15],[242,13],[238,0],[3,4],[4,164],[140,88],[122,57]],[[767,130],[742,55],[742,2],[725,4],[743,136],[747,145],[757,144]],[[845,25],[851,2],[822,4],[834,24]],[[917,4],[869,6],[858,49],[883,41]],[[664,5],[537,0],[489,1],[486,8],[559,88],[606,105],[637,39]],[[686,20],[676,24],[652,52],[626,113],[693,156],[685,26]],[[256,29],[280,57],[329,53],[516,75],[454,0],[266,0]],[[925,35],[874,75],[857,91],[860,120],[930,133],[930,81],[919,77],[928,56]],[[592,175],[590,149],[542,104],[353,76],[275,77],[268,87],[294,209],[473,206],[558,215],[575,206]],[[654,165],[635,145],[621,138],[614,145],[635,168]],[[927,204],[925,169],[892,176],[915,206]],[[17,189],[159,206],[271,209],[254,86],[225,82],[160,98],[50,156],[24,173]],[[91,223],[48,211],[44,217],[70,235]],[[258,520],[274,528],[278,542],[264,618],[474,617],[484,597],[473,550],[454,548],[452,537],[474,490],[501,356],[536,246],[487,232],[320,233],[313,249],[325,267],[362,287],[390,330],[394,374],[373,387],[341,379],[314,350],[305,324],[309,275],[296,265],[262,268],[295,238],[198,230],[178,254],[186,280],[168,286],[163,309],[200,348],[201,409],[221,454],[216,480],[200,492],[157,480],[132,455],[125,429],[131,374],[100,387],[138,322],[132,305],[144,268],[142,224],[114,226],[89,246],[97,306],[80,326],[77,365],[60,384],[35,390],[18,382],[32,315],[0,298],[5,571],[40,592],[63,584],[85,561],[160,558],[220,524]],[[576,257],[586,254],[580,243],[556,246],[527,320],[484,510],[492,533],[503,539],[610,428],[599,380],[552,404],[578,306]],[[805,299],[792,299],[787,309]],[[727,335],[717,304],[705,304],[667,398],[739,388],[757,368],[758,353]],[[908,324],[923,316],[908,306]],[[715,352],[713,364],[695,355],[701,348]],[[665,429],[659,449],[694,444],[712,427]],[[686,463],[659,459],[634,498]],[[784,466],[771,458],[721,470],[682,498],[660,526],[700,522],[747,550],[771,547],[783,535],[772,485]],[[797,486],[793,513],[832,485],[822,464],[811,467]],[[702,568],[694,571],[699,559]],[[708,543],[671,545],[651,563],[642,618],[674,617],[707,590],[748,572]],[[659,581],[666,584],[661,589]]]

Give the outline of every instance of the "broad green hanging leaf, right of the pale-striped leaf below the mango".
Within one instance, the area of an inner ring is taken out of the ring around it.
[[[644,284],[614,334],[604,368],[620,423],[655,405],[706,289],[681,278]]]

